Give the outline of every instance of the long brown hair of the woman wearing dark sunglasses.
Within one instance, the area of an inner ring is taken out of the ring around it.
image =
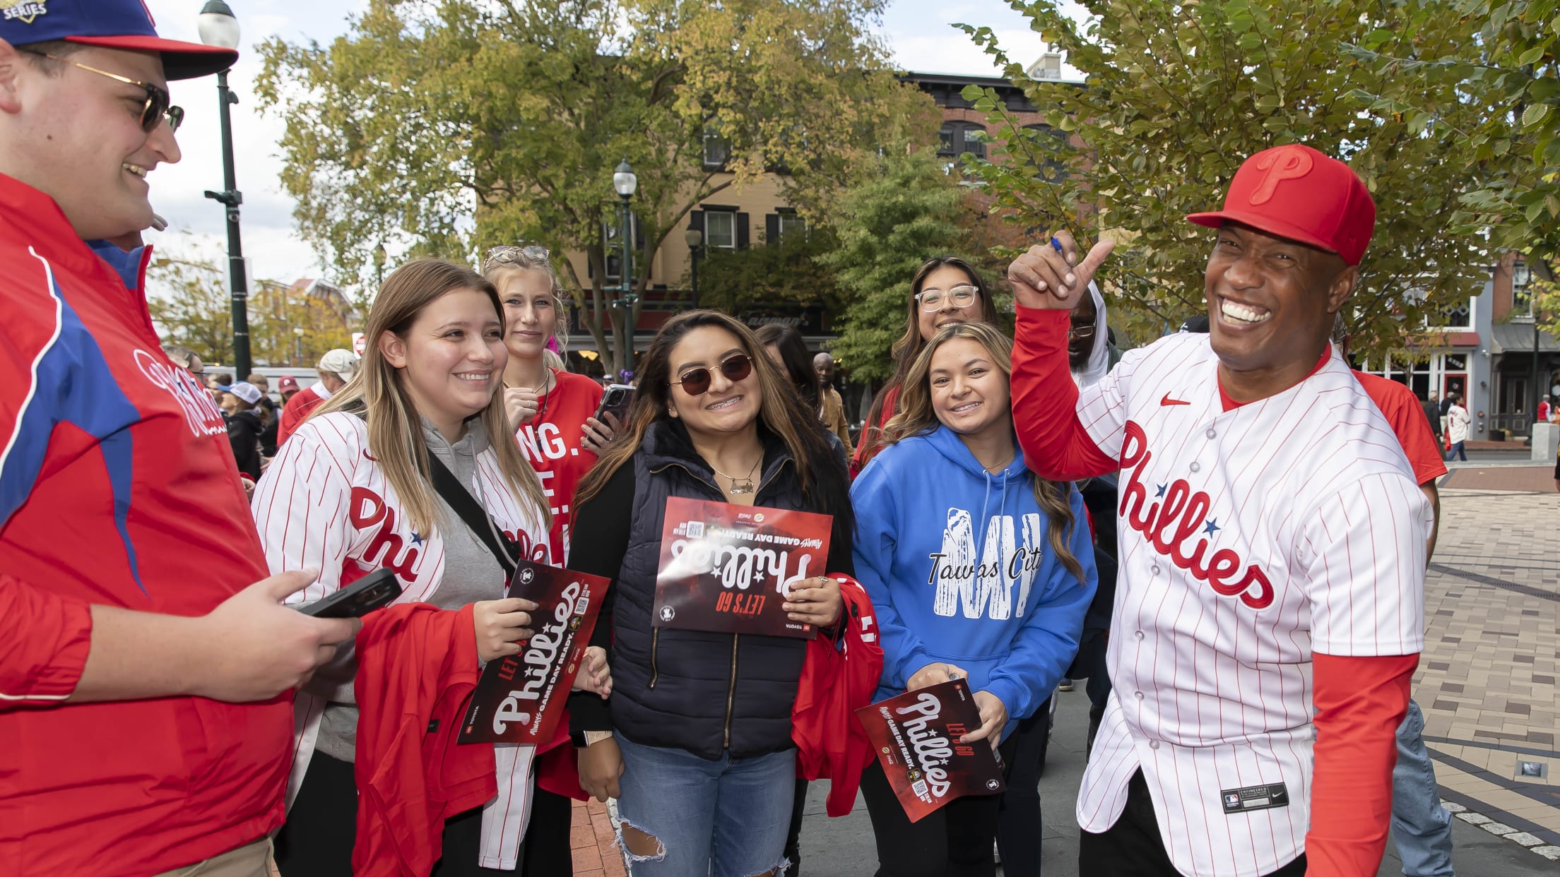
[[[758,392],[763,396],[758,406],[758,421],[769,432],[778,435],[786,449],[791,451],[802,496],[808,507],[833,515],[836,527],[841,524],[853,527],[855,518],[850,515],[849,496],[850,478],[830,446],[817,412],[802,407],[800,396],[789,387],[789,379],[764,354],[763,345],[758,343],[752,329],[719,311],[685,311],[668,320],[655,334],[655,340],[651,342],[640,367],[638,392],[633,396],[633,407],[629,409],[627,423],[580,481],[574,492],[574,506],[579,507],[601,493],[613,473],[633,459],[652,423],[671,420],[666,406],[671,401],[672,348],[688,332],[702,326],[732,332],[743,353],[753,360],[753,375],[758,376]]]

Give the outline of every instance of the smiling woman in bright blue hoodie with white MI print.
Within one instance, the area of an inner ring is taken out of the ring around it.
[[[1012,342],[947,326],[911,365],[892,442],[850,488],[856,577],[881,627],[874,699],[969,679],[987,740],[1011,762],[1019,719],[1078,651],[1094,551],[1072,484],[1033,474],[1012,432]],[[878,877],[991,875],[998,796],[961,797],[911,824],[874,762],[861,793]],[[1041,827],[1034,826],[1039,832]]]

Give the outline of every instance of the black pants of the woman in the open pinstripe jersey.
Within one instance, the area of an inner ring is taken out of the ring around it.
[[[569,799],[535,790],[530,826],[519,844],[524,874],[573,874],[569,854]],[[298,801],[276,835],[276,866],[282,877],[349,877],[357,836],[357,786],[351,762],[315,752],[303,777]],[[429,877],[509,874],[477,866],[482,808],[445,819],[443,858]]]

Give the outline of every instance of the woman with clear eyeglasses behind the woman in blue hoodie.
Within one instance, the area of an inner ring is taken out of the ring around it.
[[[894,376],[878,390],[867,410],[856,453],[850,459],[850,474],[860,473],[883,448],[883,424],[899,412],[900,387],[909,365],[916,362],[938,329],[955,323],[991,323],[997,318],[997,303],[991,287],[973,265],[956,256],[927,259],[909,281],[905,334],[894,342]]]

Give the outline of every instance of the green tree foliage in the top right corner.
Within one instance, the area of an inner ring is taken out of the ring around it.
[[[1441,5],[1466,36],[1423,45],[1409,34],[1370,33],[1346,48],[1381,72],[1360,98],[1382,117],[1454,134],[1446,164],[1477,178],[1448,231],[1488,234],[1490,247],[1521,251],[1554,279],[1560,257],[1560,6],[1554,0],[1460,0]],[[1426,100],[1440,95],[1440,100]],[[1482,108],[1462,120],[1466,105]]]

